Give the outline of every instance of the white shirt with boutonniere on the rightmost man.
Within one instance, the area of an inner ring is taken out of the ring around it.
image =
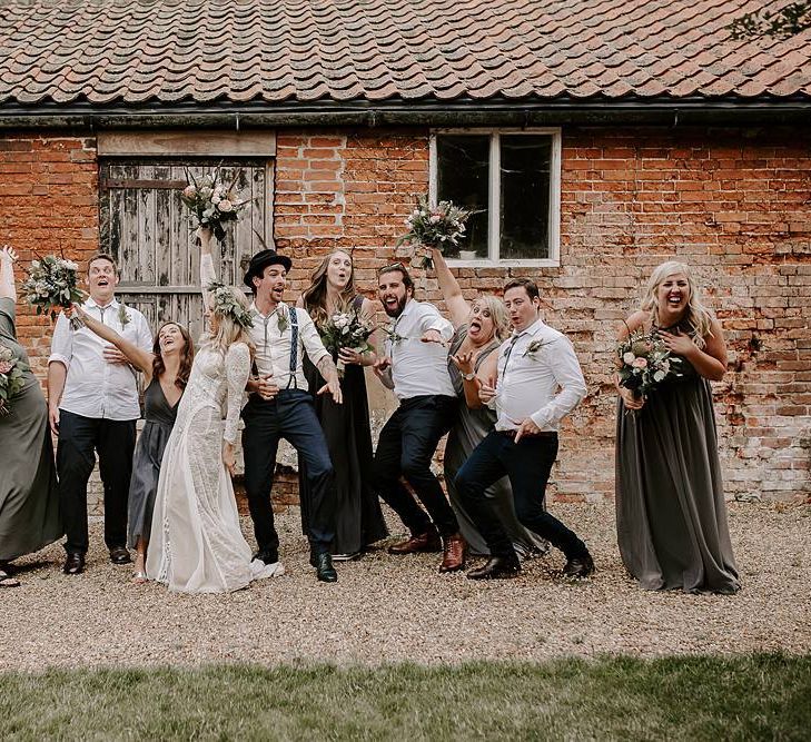
[[[498,349],[496,431],[516,431],[532,417],[542,431],[556,432],[585,395],[572,343],[543,320],[514,330]]]

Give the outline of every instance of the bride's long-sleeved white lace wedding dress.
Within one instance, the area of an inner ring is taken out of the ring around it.
[[[251,562],[239,527],[222,441],[236,442],[250,353],[236,343],[195,357],[166,446],[155,499],[147,575],[186,593],[220,593],[283,572]]]

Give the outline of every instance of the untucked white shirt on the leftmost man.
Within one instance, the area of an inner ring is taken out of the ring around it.
[[[81,308],[142,350],[152,352],[152,334],[138,309],[125,307],[129,321],[121,324],[121,305],[115,299],[106,307],[88,299]],[[108,345],[87,327],[71,329],[66,314],[59,315],[48,358],[48,363],[60,363],[68,369],[59,408],[96,419],[138,419],[136,372],[129,364],[105,360],[102,353]]]

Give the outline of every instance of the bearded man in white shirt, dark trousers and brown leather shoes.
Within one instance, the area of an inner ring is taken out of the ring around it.
[[[445,347],[453,325],[433,304],[414,299],[414,284],[399,263],[379,271],[378,295],[394,321],[388,330],[386,356],[375,364],[375,373],[394,389],[399,407],[380,431],[372,487],[412,534],[388,551],[411,554],[442,548],[439,571],[454,572],[464,566],[464,541],[456,515],[431,471],[436,446],[456,416],[456,394]],[[403,486],[400,476],[414,488],[428,514]]]

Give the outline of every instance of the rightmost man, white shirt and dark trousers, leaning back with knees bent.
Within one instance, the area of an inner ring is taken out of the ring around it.
[[[513,335],[485,360],[475,377],[483,403],[495,405],[495,429],[456,475],[456,487],[489,547],[491,558],[471,580],[512,577],[521,572],[510,536],[485,496],[507,475],[521,523],[566,555],[563,573],[586,577],[594,562],[586,545],[544,507],[546,482],[557,456],[561,419],[585,397],[586,386],[570,340],[541,319],[537,286],[515,279],[504,287]],[[558,392],[560,389],[560,392]]]

